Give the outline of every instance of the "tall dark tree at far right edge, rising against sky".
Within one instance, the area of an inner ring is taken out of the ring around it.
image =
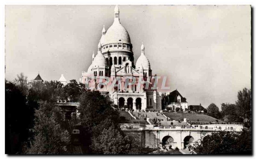
[[[251,123],[251,89],[244,88],[243,91],[238,91],[236,106],[237,114]]]

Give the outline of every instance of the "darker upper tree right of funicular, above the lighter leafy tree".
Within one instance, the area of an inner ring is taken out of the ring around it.
[[[102,125],[103,121],[111,121],[114,125],[118,126],[119,113],[114,110],[114,103],[108,96],[101,95],[99,91],[84,91],[79,98],[80,106],[78,112],[80,113],[80,122],[82,126],[83,145],[90,149],[88,146],[92,145],[92,137],[101,134],[103,128],[108,129],[108,124]],[[106,127],[106,125],[108,125]],[[98,128],[98,129],[97,129]],[[97,131],[95,131],[97,129]],[[91,152],[91,151],[89,151]]]

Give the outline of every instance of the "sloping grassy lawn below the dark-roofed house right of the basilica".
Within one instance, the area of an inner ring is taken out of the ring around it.
[[[174,120],[179,120],[179,119],[182,120],[182,113],[164,112],[164,115]],[[216,118],[214,117],[210,117],[204,114],[197,114],[197,113],[183,113],[183,117],[188,118],[188,120],[190,121],[197,121],[197,119],[199,120],[199,122],[215,122],[216,121]]]

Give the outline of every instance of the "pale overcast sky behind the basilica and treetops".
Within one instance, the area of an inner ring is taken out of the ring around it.
[[[81,78],[115,6],[6,6],[5,77]],[[145,46],[153,74],[168,76],[189,105],[234,103],[251,88],[250,6],[121,5],[135,63]]]

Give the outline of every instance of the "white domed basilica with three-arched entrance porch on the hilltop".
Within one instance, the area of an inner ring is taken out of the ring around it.
[[[102,35],[97,55],[80,79],[91,90],[109,95],[119,107],[133,110],[161,110],[161,93],[153,87],[154,78],[143,43],[140,57],[134,65],[132,43],[119,20],[119,8],[114,9],[114,22]],[[106,83],[106,78],[108,82]]]

